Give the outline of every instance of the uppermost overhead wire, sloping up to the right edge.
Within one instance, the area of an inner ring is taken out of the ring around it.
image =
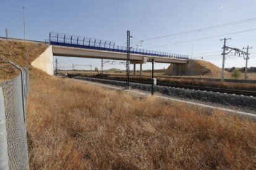
[[[221,27],[224,27],[224,26],[237,25],[237,24],[241,24],[241,23],[254,22],[254,21],[256,21],[256,17],[245,19],[245,20],[239,20],[239,21],[236,21],[236,22],[223,23],[221,25],[215,25],[215,26],[208,26],[208,27],[204,27],[204,28],[198,28],[196,30],[183,31],[183,32],[180,32],[180,33],[168,34],[168,35],[164,35],[164,36],[156,36],[154,38],[143,39],[143,41],[149,41],[149,40],[153,40],[153,39],[166,38],[166,37],[170,37],[170,36],[177,36],[177,35],[181,35],[181,34],[196,33],[196,32],[200,32],[200,31],[211,30],[211,29],[215,29],[215,28],[221,28]]]

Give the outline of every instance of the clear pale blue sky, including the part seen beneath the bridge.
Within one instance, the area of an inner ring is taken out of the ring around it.
[[[7,28],[9,37],[24,38],[22,7],[25,7],[27,39],[45,41],[49,32],[54,31],[126,46],[126,31],[130,30],[134,37],[130,39],[132,47],[138,45],[142,49],[189,55],[221,67],[223,41],[220,39],[232,38],[227,46],[239,49],[252,46],[248,67],[256,67],[255,0],[1,0],[0,36],[6,36]],[[250,18],[253,18],[250,22],[182,33]],[[182,34],[166,36],[176,33]],[[151,39],[159,36],[164,38]],[[72,64],[84,65],[75,67],[77,69],[90,70],[85,65],[91,64],[92,69],[101,68],[99,59],[57,58],[61,69],[71,69]],[[156,69],[168,66],[155,64]],[[245,67],[245,60],[228,55],[225,67]],[[103,68],[124,70],[125,65],[106,63]],[[151,64],[143,65],[143,69],[151,69]]]

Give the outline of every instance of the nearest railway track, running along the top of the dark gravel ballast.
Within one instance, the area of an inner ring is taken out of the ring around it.
[[[71,75],[71,78],[76,75]],[[81,75],[79,75],[81,76]],[[83,76],[87,78],[95,78],[89,76]],[[113,81],[126,81],[126,79],[119,79],[119,78],[99,78],[99,79],[108,79]],[[140,84],[151,84],[150,81],[145,80],[137,80],[137,79],[130,79],[131,83],[140,83]],[[202,87],[202,86],[190,86],[190,85],[183,85],[183,84],[171,84],[171,83],[161,83],[157,82],[157,86],[168,86],[168,87],[176,87],[176,88],[183,88],[183,89],[192,89],[197,91],[208,91],[208,92],[219,92],[223,94],[234,94],[234,95],[247,95],[247,96],[254,96],[256,97],[255,91],[241,91],[241,90],[234,90],[234,89],[221,89],[216,87]]]

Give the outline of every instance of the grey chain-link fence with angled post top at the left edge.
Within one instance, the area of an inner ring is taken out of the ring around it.
[[[28,70],[9,63],[18,68],[20,73],[15,78],[0,83],[0,169],[28,169],[25,124],[25,102],[29,90]]]

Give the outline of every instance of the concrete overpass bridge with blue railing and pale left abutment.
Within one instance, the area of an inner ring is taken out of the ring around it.
[[[61,33],[49,33],[50,46],[36,60],[33,67],[53,75],[53,55],[61,57],[81,57],[91,59],[126,60],[126,47],[117,46],[115,42],[100,39],[85,38]],[[168,52],[149,51],[145,49],[130,49],[130,63],[142,64],[154,59],[156,63],[186,64],[187,55],[172,54]],[[135,73],[135,71],[134,71]]]

